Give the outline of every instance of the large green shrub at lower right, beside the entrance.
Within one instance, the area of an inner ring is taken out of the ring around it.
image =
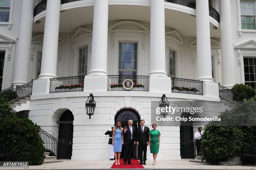
[[[245,123],[256,125],[255,101],[246,101],[232,110],[222,112],[219,117],[221,123],[210,122],[202,135],[202,160],[208,163],[226,161],[256,140],[256,126],[239,126]]]

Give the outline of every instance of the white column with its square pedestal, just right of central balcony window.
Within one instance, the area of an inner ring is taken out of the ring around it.
[[[171,91],[170,77],[165,68],[165,13],[164,0],[151,0],[150,7],[150,91]]]

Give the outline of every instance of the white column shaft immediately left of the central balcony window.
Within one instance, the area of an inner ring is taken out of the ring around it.
[[[95,0],[90,75],[107,75],[108,0]]]

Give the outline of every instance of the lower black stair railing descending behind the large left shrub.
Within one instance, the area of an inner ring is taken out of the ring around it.
[[[26,117],[21,115],[16,110],[14,110],[14,109],[12,109],[12,110],[13,110],[13,112],[16,113],[16,115],[18,115],[18,117],[26,119]],[[53,135],[47,133],[46,131],[42,130],[41,128],[39,128],[39,130],[40,130],[39,131],[40,137],[44,142],[44,148],[46,150],[51,150],[58,160],[63,159],[63,144],[64,144],[63,141],[58,138],[55,138]],[[45,139],[45,138],[47,138],[47,139]],[[53,142],[50,142],[49,139],[53,140]]]

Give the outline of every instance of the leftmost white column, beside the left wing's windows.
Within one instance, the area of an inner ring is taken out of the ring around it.
[[[13,78],[14,85],[23,85],[28,81],[30,47],[33,29],[34,0],[23,0],[20,12],[19,39],[17,44],[17,55],[15,72]]]

